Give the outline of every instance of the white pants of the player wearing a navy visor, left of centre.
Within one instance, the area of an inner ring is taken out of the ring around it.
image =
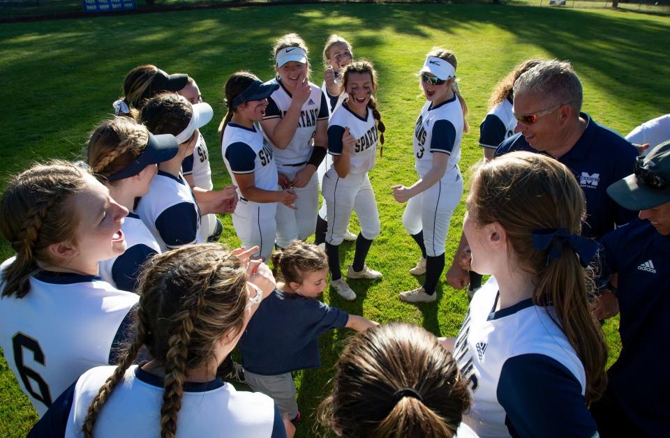
[[[260,250],[253,257],[269,260],[274,249],[276,237],[276,202],[251,202],[239,199],[235,212],[232,214],[232,225],[237,237],[246,248],[258,245]]]

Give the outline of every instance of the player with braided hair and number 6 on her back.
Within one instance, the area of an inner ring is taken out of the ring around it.
[[[127,213],[67,161],[34,165],[3,194],[0,229],[16,256],[1,266],[0,347],[39,416],[132,336],[137,295],[97,277],[98,262],[126,249]]]

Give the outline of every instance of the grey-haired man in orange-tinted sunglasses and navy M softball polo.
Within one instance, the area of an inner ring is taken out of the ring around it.
[[[581,82],[568,62],[544,61],[526,71],[514,82],[518,134],[505,139],[496,156],[530,151],[566,165],[586,197],[582,234],[599,238],[636,216],[613,202],[605,189],[632,172],[637,151],[581,112],[581,103]]]

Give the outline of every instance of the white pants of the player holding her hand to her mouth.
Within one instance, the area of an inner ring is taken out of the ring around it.
[[[303,167],[277,165],[278,172],[293,179]],[[307,239],[314,234],[316,215],[319,209],[319,181],[317,172],[306,186],[293,188],[298,199],[295,200],[297,210],[284,204],[277,204],[277,245],[286,248],[295,239]]]

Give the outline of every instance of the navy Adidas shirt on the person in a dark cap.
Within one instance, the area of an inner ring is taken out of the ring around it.
[[[650,436],[670,426],[670,236],[636,219],[600,239],[603,275],[618,273],[621,353],[609,388]]]

